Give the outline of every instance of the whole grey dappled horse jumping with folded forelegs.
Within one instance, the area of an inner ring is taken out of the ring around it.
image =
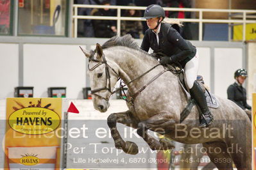
[[[180,123],[180,112],[187,99],[178,77],[147,52],[139,49],[131,36],[115,36],[94,51],[83,50],[89,58],[90,87],[94,108],[106,112],[115,83],[121,78],[128,86],[128,111],[108,117],[117,149],[137,154],[137,144],[124,141],[116,123],[137,128],[137,133],[152,150],[168,150],[173,144],[155,139],[147,130],[158,132],[180,143],[202,143],[210,160],[218,169],[251,169],[251,123],[245,112],[231,100],[217,97],[218,109],[210,109],[214,121],[208,128],[199,128],[198,108]],[[148,72],[147,72],[148,71]]]

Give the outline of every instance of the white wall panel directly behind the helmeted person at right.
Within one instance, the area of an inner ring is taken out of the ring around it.
[[[235,82],[235,70],[243,68],[243,49],[214,49],[214,92],[219,97],[227,98],[226,89]]]

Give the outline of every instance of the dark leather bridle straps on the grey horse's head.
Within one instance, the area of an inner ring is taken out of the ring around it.
[[[109,69],[111,69],[111,70],[117,75],[117,79],[120,79],[120,77],[119,77],[118,73],[115,72],[114,68],[112,68],[110,65],[108,65],[107,60],[106,60],[106,58],[105,58],[105,54],[102,55],[103,61],[99,61],[99,60],[97,60],[97,59],[93,59],[94,54],[95,54],[95,51],[90,50],[89,62],[90,62],[90,61],[95,61],[95,62],[97,62],[98,64],[95,65],[95,66],[93,66],[92,68],[89,68],[89,64],[88,64],[88,70],[89,70],[89,71],[92,71],[92,70],[94,70],[95,68],[97,68],[98,66],[104,64],[104,65],[105,65],[105,73],[106,73],[106,81],[105,81],[106,84],[105,84],[105,87],[103,87],[103,88],[92,89],[92,90],[91,90],[91,93],[92,93],[92,95],[95,95],[96,97],[99,97],[99,98],[102,98],[102,99],[108,101],[109,98],[111,97],[111,95],[113,95],[113,94],[115,93],[115,91],[111,91],[111,83],[110,83],[110,78],[111,78],[111,76],[110,76]],[[107,83],[108,83],[108,85],[107,85]],[[97,92],[99,92],[99,91],[101,91],[101,90],[108,90],[108,91],[111,93],[110,97],[102,97],[101,95],[98,95]]]

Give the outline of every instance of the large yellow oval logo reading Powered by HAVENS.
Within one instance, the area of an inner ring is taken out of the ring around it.
[[[13,112],[9,118],[10,127],[22,134],[47,134],[60,125],[60,117],[50,109],[26,107]]]

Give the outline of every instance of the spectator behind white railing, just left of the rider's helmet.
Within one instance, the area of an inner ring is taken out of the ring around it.
[[[128,6],[135,6],[130,3]],[[141,11],[139,10],[126,10],[124,17],[141,17]],[[142,35],[142,22],[140,20],[122,20],[121,21],[121,35],[130,34],[133,38],[140,38]]]

